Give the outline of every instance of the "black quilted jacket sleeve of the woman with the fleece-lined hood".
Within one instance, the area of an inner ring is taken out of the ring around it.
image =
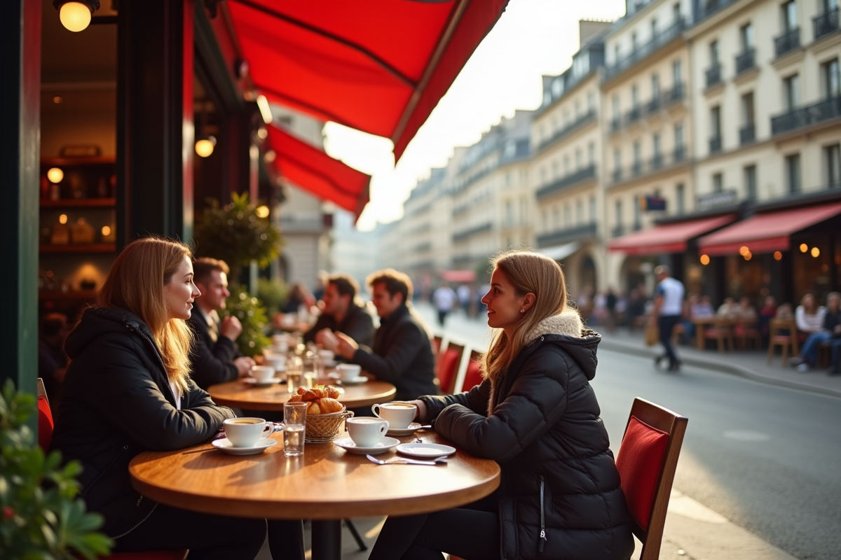
[[[508,374],[516,375],[516,380],[492,415],[454,403],[438,415],[436,432],[469,453],[498,462],[516,457],[536,442],[566,410],[569,367],[563,356],[551,353],[542,359],[532,357],[520,372]]]

